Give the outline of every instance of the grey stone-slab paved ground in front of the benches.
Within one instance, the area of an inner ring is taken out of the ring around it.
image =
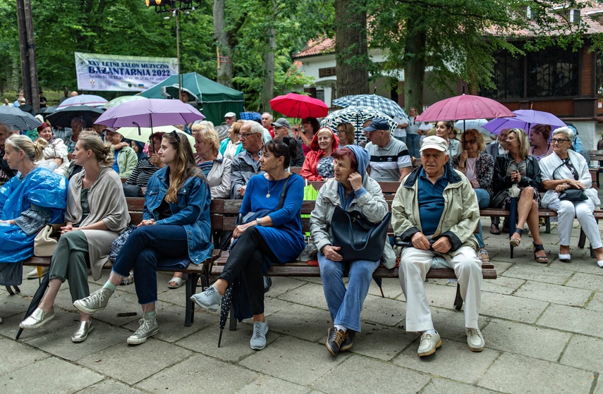
[[[483,220],[484,228],[489,221]],[[184,288],[168,290],[159,275],[159,334],[126,345],[139,316],[133,286],[120,287],[109,307],[95,314],[95,331],[71,343],[78,315],[67,285],[56,317],[25,331],[18,323],[37,281],[22,293],[0,290],[0,391],[4,393],[593,393],[603,394],[603,269],[587,250],[566,264],[556,259],[556,226],[543,235],[551,261],[537,264],[530,238],[509,259],[508,240],[486,232],[499,278],[484,281],[480,328],[486,349],[470,352],[463,313],[453,309],[455,284],[427,283],[443,345],[432,357],[416,355],[418,335],[404,331],[405,300],[398,281],[384,280],[385,298],[372,285],[363,332],[350,352],[331,357],[324,347],[329,314],[319,278],[274,278],[267,293],[269,344],[248,345],[251,326],[224,331],[218,316],[197,309],[183,326]],[[572,245],[578,244],[574,229]],[[96,290],[106,280],[91,282]]]

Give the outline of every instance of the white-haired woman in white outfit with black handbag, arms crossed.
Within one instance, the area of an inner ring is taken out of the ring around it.
[[[592,212],[601,202],[597,190],[592,188],[588,164],[581,154],[569,149],[575,135],[573,130],[562,127],[554,130],[552,146],[554,154],[540,160],[542,185],[547,192],[542,197],[542,207],[557,213],[559,228],[559,260],[571,261],[569,242],[573,218],[578,218],[597,264],[603,268],[603,243],[599,226]]]

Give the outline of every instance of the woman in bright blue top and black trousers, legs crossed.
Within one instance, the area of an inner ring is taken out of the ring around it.
[[[303,178],[285,171],[297,155],[298,144],[293,138],[284,137],[264,145],[260,164],[265,173],[252,176],[247,184],[240,207],[245,224],[240,224],[233,231],[236,243],[231,248],[224,271],[216,283],[190,298],[202,308],[217,311],[226,288],[241,275],[253,316],[250,340],[253,350],[266,346],[268,323],[264,319],[264,274],[274,263],[295,260],[305,247],[300,218]],[[283,193],[283,204],[279,208]]]

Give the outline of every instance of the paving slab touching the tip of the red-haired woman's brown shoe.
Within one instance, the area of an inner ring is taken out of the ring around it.
[[[348,356],[342,353],[338,357],[331,357],[324,345],[287,336],[275,340],[238,364],[262,374],[307,386]],[[292,374],[291,371],[303,373]]]

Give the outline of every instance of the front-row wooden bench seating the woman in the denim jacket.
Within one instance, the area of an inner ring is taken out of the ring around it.
[[[142,197],[126,197],[128,202],[128,211],[130,213],[130,223],[138,224],[142,221],[142,209],[145,205],[145,199]],[[236,214],[240,208],[240,201],[236,201],[236,210],[231,208],[233,204],[229,204],[229,200],[214,200],[211,206],[211,219],[212,219],[212,231],[232,230],[236,221]],[[229,217],[230,216],[230,217]],[[214,242],[215,244],[216,242]],[[185,269],[157,269],[157,271],[164,272],[182,272],[186,275],[185,283],[185,305],[186,312],[184,317],[184,326],[189,327],[193,324],[195,317],[195,303],[190,301],[190,297],[197,293],[197,280],[201,278],[203,287],[207,287],[209,283],[209,264],[212,263],[220,256],[220,250],[214,249],[212,256],[202,262],[202,264],[195,265],[193,263],[188,264]],[[24,266],[50,266],[50,257],[30,257],[23,261]],[[113,266],[112,261],[107,261],[103,269],[111,269]],[[17,286],[13,286],[14,290],[6,286],[8,293],[15,294],[20,292]]]

